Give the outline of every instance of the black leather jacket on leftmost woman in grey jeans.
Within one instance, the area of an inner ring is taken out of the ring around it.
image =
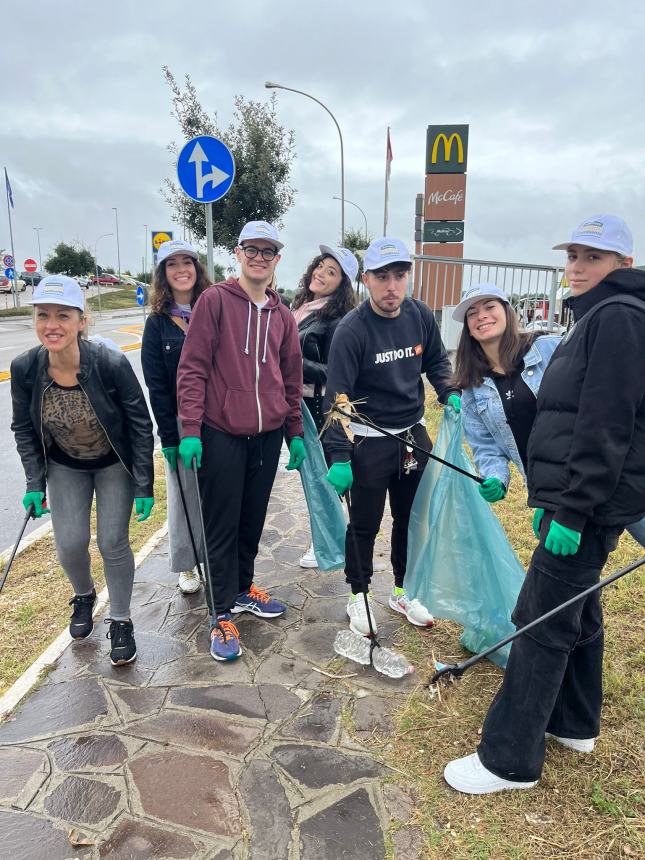
[[[130,362],[122,352],[82,340],[77,379],[105,430],[110,445],[134,480],[135,498],[153,495],[154,438],[148,406]],[[11,362],[11,429],[27,478],[27,492],[45,492],[47,454],[42,405],[52,384],[49,354],[42,346]]]

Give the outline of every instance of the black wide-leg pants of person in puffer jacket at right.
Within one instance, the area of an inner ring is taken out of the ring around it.
[[[588,523],[574,556],[544,548],[553,514],[513,612],[521,627],[598,582],[622,528]],[[544,733],[595,738],[600,732],[604,632],[600,592],[574,603],[513,642],[504,681],[484,721],[478,748],[484,767],[518,782],[538,779]]]

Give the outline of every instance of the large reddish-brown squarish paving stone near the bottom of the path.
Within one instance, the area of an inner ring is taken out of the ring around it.
[[[222,762],[164,750],[141,756],[129,767],[146,815],[191,830],[240,834],[240,810]]]

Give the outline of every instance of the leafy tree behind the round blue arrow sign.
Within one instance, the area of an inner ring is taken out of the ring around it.
[[[236,96],[233,121],[228,128],[221,129],[217,114],[211,117],[200,104],[190,76],[186,75],[182,89],[167,66],[163,71],[172,92],[172,115],[179,123],[182,137],[185,140],[200,134],[218,137],[235,158],[235,181],[226,196],[212,204],[214,245],[230,252],[246,221],[262,219],[281,226],[280,219],[293,205],[295,196],[289,184],[295,151],[293,131],[286,131],[278,123],[275,93],[268,102]],[[180,147],[173,142],[168,150],[178,156]],[[173,219],[193,235],[204,238],[203,204],[186,197],[171,179],[165,180],[161,193],[173,208]]]

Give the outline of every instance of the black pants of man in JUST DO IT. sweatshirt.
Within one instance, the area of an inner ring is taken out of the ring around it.
[[[412,428],[417,445],[430,450],[425,427]],[[354,483],[350,491],[351,518],[345,536],[345,579],[354,594],[367,589],[372,579],[374,542],[381,527],[385,496],[390,494],[392,512],[391,561],[394,583],[403,585],[408,553],[408,522],[414,495],[428,458],[413,456],[418,466],[409,475],[403,471],[405,446],[390,437],[356,436],[352,456]]]

